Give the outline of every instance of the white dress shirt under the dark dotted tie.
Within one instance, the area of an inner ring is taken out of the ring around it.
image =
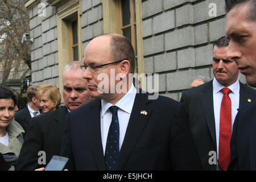
[[[129,123],[131,110],[133,109],[134,99],[137,90],[134,85],[131,85],[129,91],[115,104],[118,107],[117,115],[119,121],[119,150],[122,147],[123,139],[125,138],[126,129]],[[105,100],[101,100],[101,140],[102,148],[105,155],[106,140],[108,138],[109,126],[112,121],[112,113],[109,107],[113,106]]]

